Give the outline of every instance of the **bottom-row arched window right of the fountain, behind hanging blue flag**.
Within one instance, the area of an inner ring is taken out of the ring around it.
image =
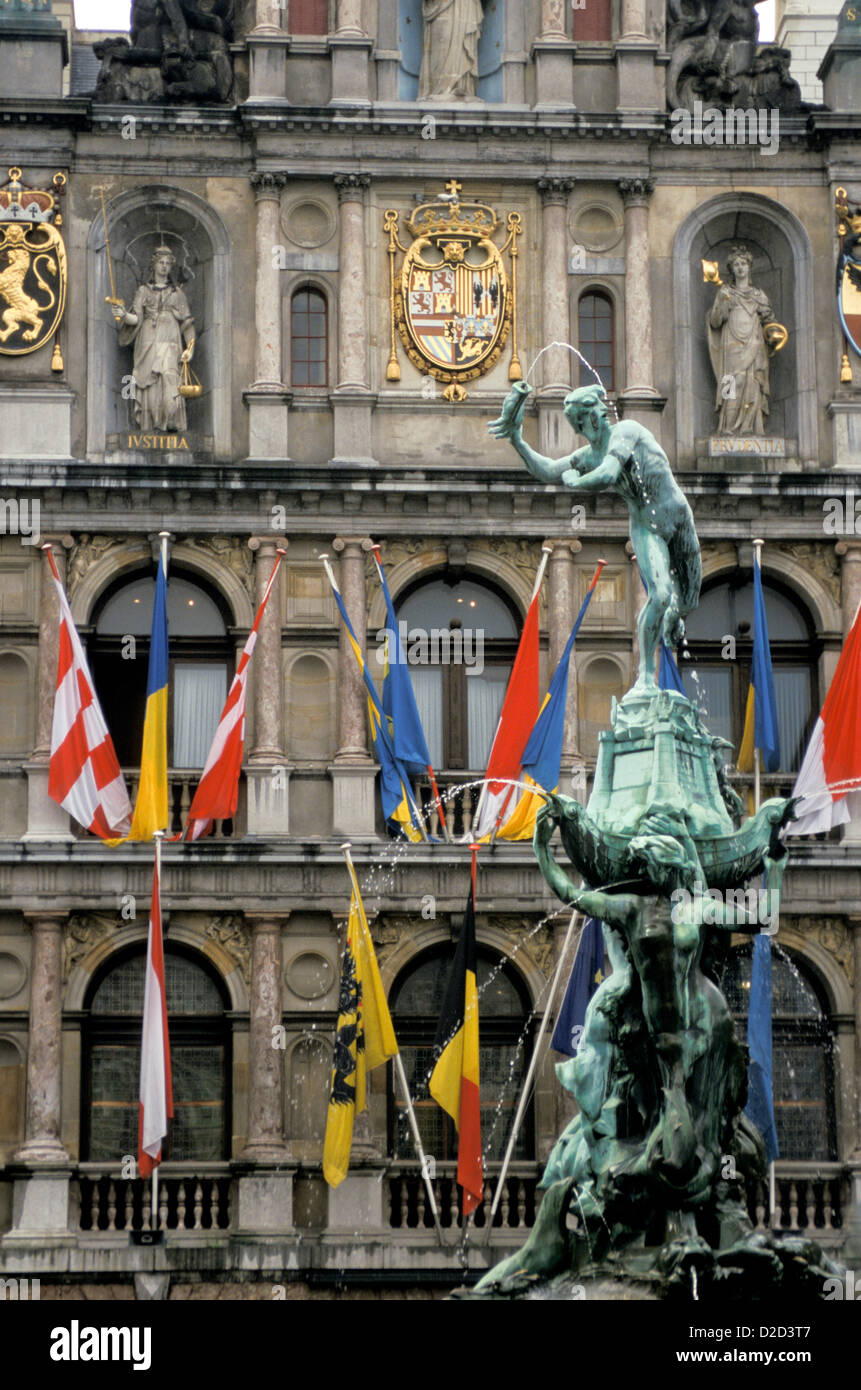
[[[836,1159],[833,1038],[825,1001],[803,963],[772,941],[775,1125],[780,1158]],[[747,1041],[751,948],[733,951],[722,988]]]

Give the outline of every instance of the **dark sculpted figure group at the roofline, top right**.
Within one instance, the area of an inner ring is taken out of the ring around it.
[[[754,0],[669,0],[666,71],[670,110],[766,107],[804,110],[801,89],[789,74],[790,54],[758,46]]]

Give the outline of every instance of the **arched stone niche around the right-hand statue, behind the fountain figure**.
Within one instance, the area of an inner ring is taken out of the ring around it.
[[[768,435],[796,441],[803,466],[818,463],[812,249],[798,218],[759,193],[722,193],[697,207],[676,232],[673,318],[676,349],[676,457],[687,467],[695,442],[715,430],[716,382],[708,356],[705,318],[716,286],[702,279],[702,260],[716,260],[726,279],[726,253],[736,242],[754,256],[753,282],[789,329],[789,342],[769,357]]]

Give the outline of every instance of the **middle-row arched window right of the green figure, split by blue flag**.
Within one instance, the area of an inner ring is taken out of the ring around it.
[[[780,770],[796,771],[819,710],[816,659],[822,644],[796,599],[762,582],[775,699],[780,730]],[[754,585],[739,574],[707,589],[687,619],[690,660],[682,664],[684,688],[700,701],[712,734],[739,749],[750,688],[754,637]],[[732,638],[733,646],[727,644]],[[695,680],[694,680],[695,673]]]

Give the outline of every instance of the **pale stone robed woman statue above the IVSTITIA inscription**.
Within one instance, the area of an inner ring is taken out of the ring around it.
[[[120,346],[135,345],[135,424],[159,434],[188,428],[179,378],[182,363],[189,363],[195,350],[195,321],[174,279],[174,265],[170,246],[156,246],[149,278],[138,286],[132,307],[114,307]]]

